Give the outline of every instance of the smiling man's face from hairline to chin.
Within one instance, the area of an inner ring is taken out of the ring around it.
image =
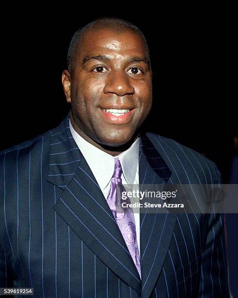
[[[152,104],[152,73],[142,38],[89,31],[78,52],[67,98],[78,131],[99,144],[126,144]]]

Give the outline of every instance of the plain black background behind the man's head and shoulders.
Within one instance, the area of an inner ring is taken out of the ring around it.
[[[92,19],[116,16],[137,25],[150,49],[154,102],[148,130],[201,152],[216,162],[223,182],[228,183],[235,154],[233,136],[238,135],[237,34],[232,7],[146,11],[144,3],[137,4],[139,12],[126,6],[122,13],[115,9],[111,9],[114,13],[95,13],[92,8],[62,5],[60,12],[59,7],[49,11],[37,6],[2,11],[0,149],[61,122],[70,109],[61,74],[73,33]],[[238,247],[233,232],[237,215],[228,221],[232,240],[228,251],[233,258],[234,245]],[[230,263],[232,267],[234,259]],[[231,275],[233,282],[236,275],[236,271]]]

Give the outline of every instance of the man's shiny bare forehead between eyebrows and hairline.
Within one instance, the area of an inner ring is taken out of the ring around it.
[[[115,53],[120,55],[146,55],[146,47],[141,36],[136,33],[114,32],[106,29],[89,31],[80,43],[79,58],[89,54]]]

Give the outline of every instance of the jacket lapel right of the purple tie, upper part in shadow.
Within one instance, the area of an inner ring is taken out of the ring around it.
[[[166,184],[171,171],[151,141],[150,134],[140,139],[139,181],[141,190],[146,184]],[[140,213],[140,254],[142,298],[149,297],[168,252],[177,214]]]

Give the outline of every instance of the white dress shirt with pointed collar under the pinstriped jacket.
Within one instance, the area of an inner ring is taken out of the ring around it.
[[[114,157],[119,158],[122,166],[122,184],[139,185],[139,137],[127,150],[123,151],[117,156],[112,156],[104,152],[103,150],[96,148],[95,146],[87,142],[84,138],[82,138],[73,129],[70,120],[69,126],[73,139],[82,152],[89,167],[91,168],[92,173],[106,200],[110,190],[110,180],[114,173]],[[133,208],[133,211],[135,218],[137,243],[140,252],[140,213],[136,208]]]

